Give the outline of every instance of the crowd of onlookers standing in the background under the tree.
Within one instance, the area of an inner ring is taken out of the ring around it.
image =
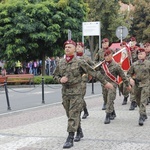
[[[52,75],[56,67],[59,57],[47,57],[45,60],[45,74]],[[42,60],[32,60],[29,62],[16,61],[14,64],[9,64],[7,61],[0,60],[0,74],[34,74],[35,76],[42,73]]]

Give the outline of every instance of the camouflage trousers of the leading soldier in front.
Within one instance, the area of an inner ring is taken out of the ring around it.
[[[76,132],[81,125],[81,111],[83,109],[82,95],[63,95],[63,106],[68,117],[67,132]]]

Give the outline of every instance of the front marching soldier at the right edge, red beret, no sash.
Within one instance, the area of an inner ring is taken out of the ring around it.
[[[147,119],[146,103],[149,96],[150,84],[150,61],[146,60],[146,52],[144,48],[139,48],[138,61],[134,62],[129,71],[130,84],[134,87],[134,95],[139,107],[139,125],[144,124]]]

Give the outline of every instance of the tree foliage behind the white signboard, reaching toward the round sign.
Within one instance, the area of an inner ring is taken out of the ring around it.
[[[110,42],[118,41],[116,29],[118,26],[127,26],[127,14],[120,12],[118,0],[86,0],[89,5],[88,21],[100,21],[101,37],[108,38]],[[93,44],[94,42],[94,44]],[[97,37],[89,38],[92,55],[98,50]],[[95,47],[94,47],[95,46]],[[94,51],[94,52],[93,52]]]

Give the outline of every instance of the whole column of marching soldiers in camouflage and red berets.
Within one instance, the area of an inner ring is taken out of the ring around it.
[[[131,41],[133,42],[134,39]],[[75,43],[73,40],[68,40],[64,43],[66,57],[59,60],[53,74],[54,79],[62,84],[62,104],[68,117],[68,137],[63,148],[72,147],[73,142],[80,141],[84,136],[80,118],[82,111],[84,111],[83,119],[89,115],[84,100],[88,75],[101,82],[104,99],[102,109],[106,111],[105,124],[109,124],[116,117],[114,100],[118,87],[118,75],[123,80],[124,91],[127,91],[124,94],[123,103],[127,103],[129,91],[132,89],[134,91],[133,100],[136,101],[139,107],[139,125],[144,124],[145,119],[147,119],[146,101],[150,97],[150,61],[146,60],[149,59],[150,50],[149,45],[145,46],[146,51],[140,48],[132,51],[130,48],[130,51],[134,52],[131,53],[132,61],[134,54],[136,57],[138,56],[138,61],[132,62],[127,75],[125,75],[120,65],[113,60],[114,52],[109,48],[107,38],[102,40],[102,49],[95,56],[95,62],[103,62],[96,69],[93,67],[94,63],[91,59],[84,54],[84,44],[82,42]],[[137,71],[139,67],[141,72]],[[142,75],[139,75],[139,73]],[[131,102],[131,104],[133,103]],[[74,137],[75,133],[76,136]]]

